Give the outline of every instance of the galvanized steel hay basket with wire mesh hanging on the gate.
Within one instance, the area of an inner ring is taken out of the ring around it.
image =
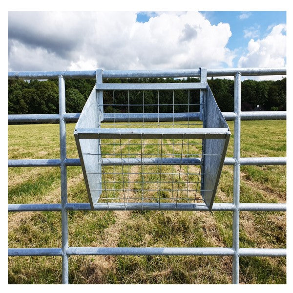
[[[150,94],[146,103],[146,91],[154,89],[158,100],[153,92],[152,104]],[[160,91],[170,89],[171,101],[162,94],[160,98]],[[188,91],[188,99],[180,92],[176,101],[176,90],[182,89]],[[190,94],[194,89],[200,95]],[[106,103],[106,90],[113,91],[112,104]],[[119,90],[124,96],[119,97]],[[133,102],[129,91],[139,91],[142,101]],[[182,105],[188,111],[178,112]],[[201,113],[192,112],[192,105],[198,105]],[[173,107],[172,113],[160,112],[163,106],[165,111]],[[135,112],[139,110],[142,113]],[[194,123],[199,117],[202,124]],[[207,83],[103,84],[102,71],[97,70],[96,87],[74,135],[92,209],[96,205],[176,209],[179,204],[204,204],[211,210],[230,130]]]

